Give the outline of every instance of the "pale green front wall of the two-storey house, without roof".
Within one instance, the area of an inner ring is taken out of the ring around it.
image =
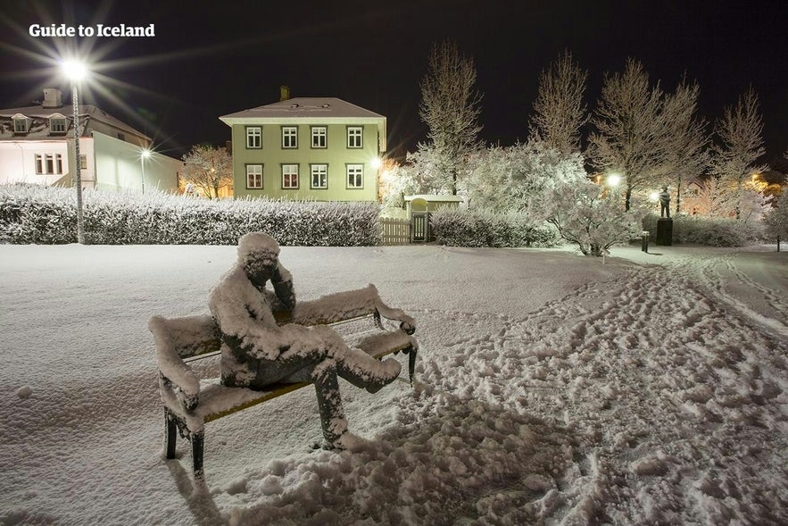
[[[377,168],[372,165],[379,155],[377,124],[358,124],[363,127],[362,148],[347,147],[348,124],[307,122],[296,125],[298,148],[282,147],[282,125],[264,124],[261,125],[262,148],[249,149],[246,148],[247,126],[256,124],[235,124],[232,128],[235,196],[270,196],[316,201],[377,201]],[[326,148],[311,147],[311,126],[326,126]],[[311,188],[312,163],[328,164],[328,188]],[[262,189],[246,188],[247,164],[263,165]],[[298,189],[282,188],[282,164],[298,164]],[[363,188],[347,188],[346,164],[363,164]]]

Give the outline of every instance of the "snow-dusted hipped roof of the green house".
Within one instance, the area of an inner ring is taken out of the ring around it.
[[[383,115],[370,112],[361,106],[333,96],[302,96],[242,112],[230,113],[220,117],[220,120],[229,124],[228,120],[291,118],[310,120],[315,118],[386,119]]]

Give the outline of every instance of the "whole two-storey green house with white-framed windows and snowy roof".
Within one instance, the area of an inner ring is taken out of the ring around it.
[[[386,117],[299,97],[220,117],[232,129],[234,195],[377,201]]]

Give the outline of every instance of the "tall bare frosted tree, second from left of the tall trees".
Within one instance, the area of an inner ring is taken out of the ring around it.
[[[539,92],[528,125],[530,137],[563,154],[580,151],[580,128],[588,121],[583,100],[588,71],[565,51],[539,75]]]

